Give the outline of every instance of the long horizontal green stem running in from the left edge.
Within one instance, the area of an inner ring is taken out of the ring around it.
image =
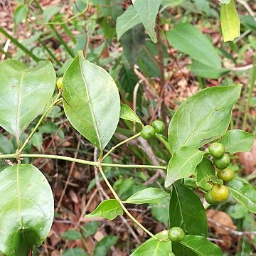
[[[167,166],[151,166],[151,165],[140,165],[140,164],[107,164],[100,163],[98,161],[87,161],[83,159],[75,159],[69,156],[59,156],[51,154],[0,154],[0,159],[15,159],[20,158],[42,158],[42,159],[58,159],[64,161],[72,161],[78,164],[87,164],[90,166],[107,166],[107,167],[117,167],[117,168],[137,168],[137,169],[162,169],[166,170]]]

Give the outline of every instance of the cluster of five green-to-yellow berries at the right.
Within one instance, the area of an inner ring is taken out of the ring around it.
[[[224,182],[232,181],[234,171],[228,168],[230,156],[225,154],[225,146],[215,142],[209,146],[209,153],[213,156],[213,164],[218,168],[217,176]],[[229,191],[225,185],[215,184],[210,191],[206,193],[206,202],[210,204],[220,203],[228,199]]]

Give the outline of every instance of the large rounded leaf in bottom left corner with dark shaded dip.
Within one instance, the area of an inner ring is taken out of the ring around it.
[[[28,256],[50,231],[53,193],[46,177],[31,164],[4,169],[0,180],[0,250],[9,256]]]

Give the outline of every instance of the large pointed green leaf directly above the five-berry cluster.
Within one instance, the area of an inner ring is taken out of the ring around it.
[[[223,136],[240,90],[241,85],[209,87],[183,102],[169,124],[171,152],[181,146],[198,148]]]

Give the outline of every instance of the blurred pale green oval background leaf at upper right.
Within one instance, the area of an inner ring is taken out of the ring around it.
[[[180,23],[166,33],[167,40],[182,53],[214,68],[221,68],[221,59],[212,43],[201,31],[188,23]]]

